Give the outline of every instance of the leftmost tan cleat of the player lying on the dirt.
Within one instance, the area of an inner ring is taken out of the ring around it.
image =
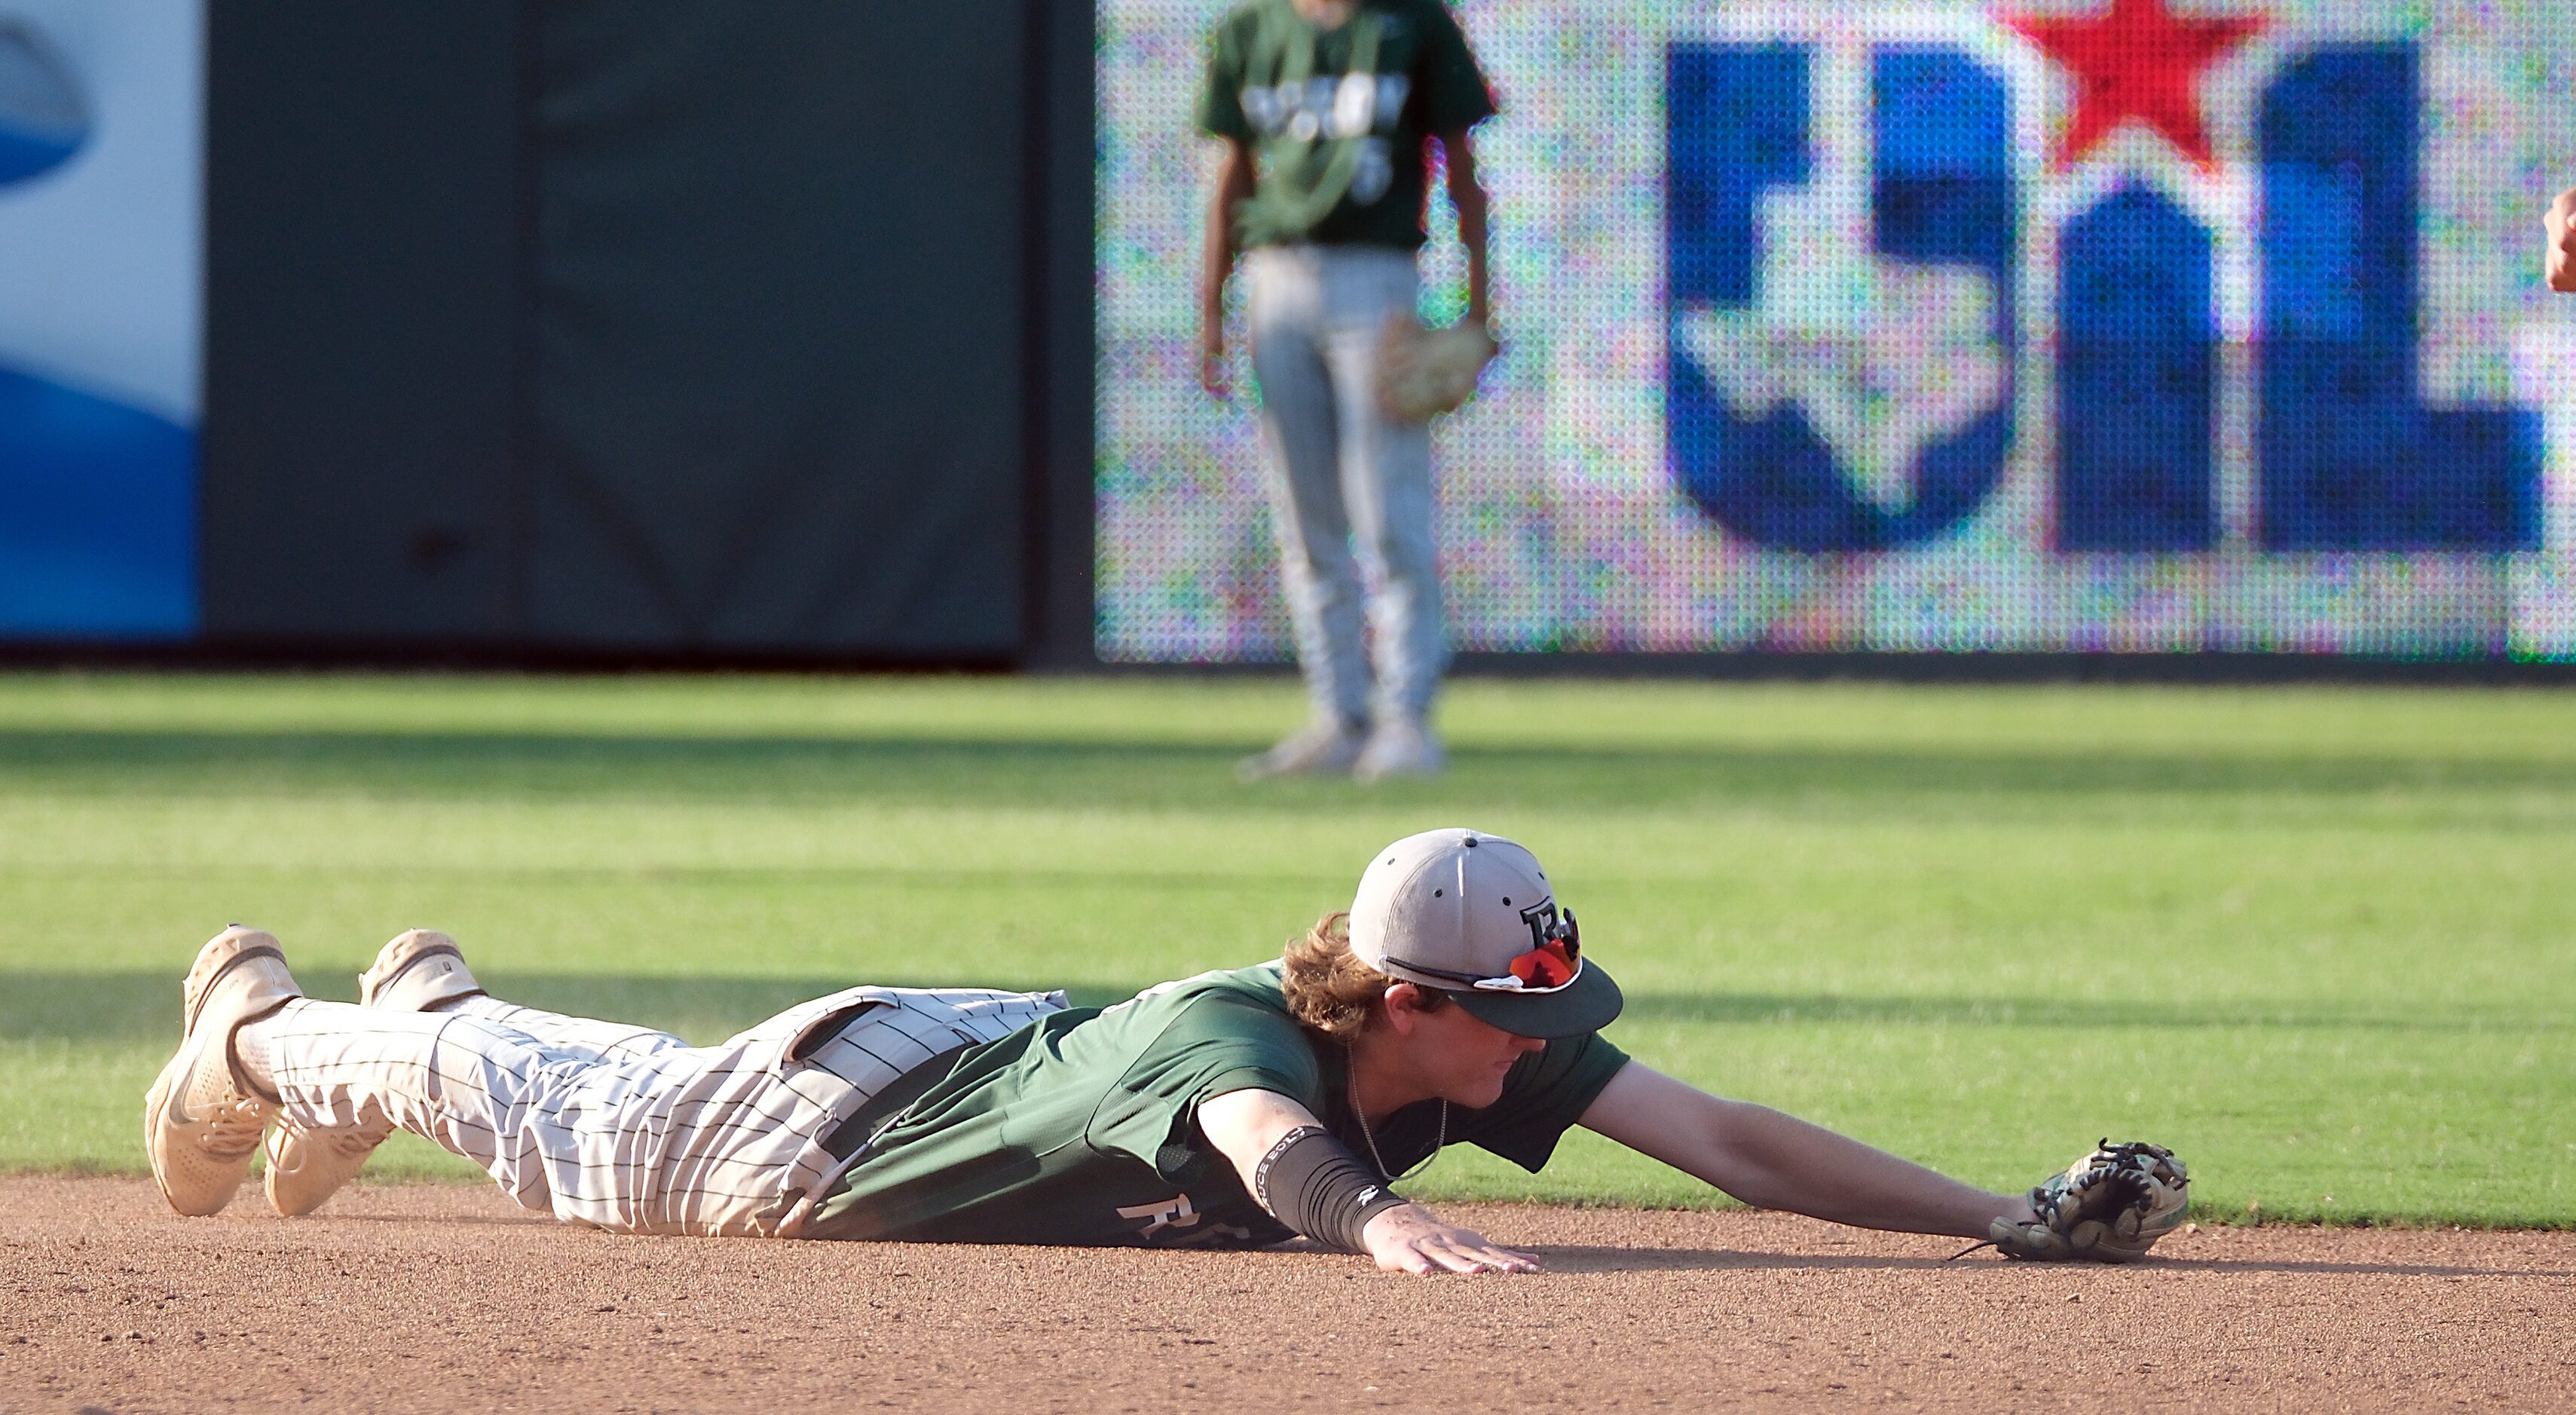
[[[180,1214],[222,1214],[250,1173],[276,1101],[242,1080],[232,1031],[301,997],[276,936],[232,925],[196,951],[180,985],[178,1054],[144,1093],[152,1183]]]

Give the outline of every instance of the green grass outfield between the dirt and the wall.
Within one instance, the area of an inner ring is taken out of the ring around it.
[[[1530,843],[1610,1036],[1986,1186],[2576,1224],[2576,696],[1461,683],[1455,771],[1242,789],[1283,680],[0,675],[0,1170],[142,1173],[227,920],[407,925],[714,1039],[848,982],[1100,1003],[1278,951],[1401,833]],[[386,1175],[461,1165],[397,1137]],[[1427,1196],[1708,1204],[1577,1134]]]

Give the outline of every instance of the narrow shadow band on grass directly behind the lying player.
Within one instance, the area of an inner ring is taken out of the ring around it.
[[[0,969],[0,1041],[36,1039],[178,1039],[178,972],[18,972]],[[301,979],[317,997],[355,1000],[355,979]],[[1048,990],[1036,977],[613,977],[495,972],[492,992],[531,1008],[611,1018],[719,1041],[760,1018],[855,982],[909,987]],[[1121,982],[1061,985],[1074,1005],[1100,1008],[1141,987]],[[2478,1008],[2313,1008],[2269,1003],[2130,1003],[2130,1000],[2002,1000],[2002,997],[1842,997],[1780,992],[1631,995],[1620,1023],[1878,1023],[1878,1026],[2027,1026],[2027,1028],[2339,1028],[2383,1034],[2568,1031],[2571,1018]],[[1613,1031],[1615,1036],[1615,1031]]]

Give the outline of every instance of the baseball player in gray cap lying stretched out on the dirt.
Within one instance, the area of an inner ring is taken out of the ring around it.
[[[1257,1247],[1296,1235],[1412,1273],[1538,1263],[1388,1191],[1443,1144],[1538,1170],[1587,1126],[1765,1209],[2128,1260],[2184,1170],[2107,1144],[2027,1196],[1942,1178],[1602,1041],[1618,985],[1530,851],[1432,830],[1378,851],[1350,915],[1283,961],[1149,987],[853,987],[724,1041],[518,1008],[412,930],[361,1003],[296,990],[227,928],[183,987],[144,1142],[180,1214],[309,1214],[397,1126],[564,1222],[621,1232]],[[276,1129],[270,1129],[276,1121]]]

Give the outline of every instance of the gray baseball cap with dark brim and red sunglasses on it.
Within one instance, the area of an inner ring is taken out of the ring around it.
[[[1582,956],[1538,856],[1484,830],[1425,830],[1378,851],[1350,905],[1350,951],[1520,1036],[1584,1036],[1623,1003]]]

